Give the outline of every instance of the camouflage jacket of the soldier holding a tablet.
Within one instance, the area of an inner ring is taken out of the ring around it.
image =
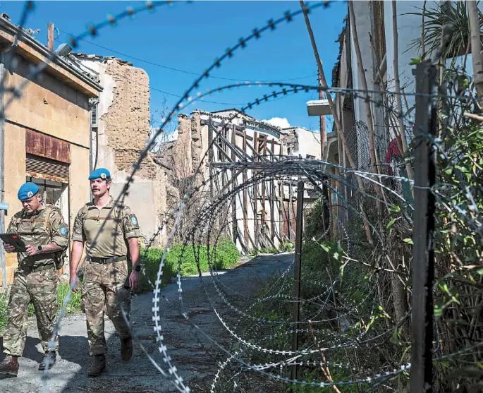
[[[20,210],[15,214],[8,225],[8,232],[15,233],[33,246],[47,246],[56,243],[63,250],[68,246],[68,227],[58,207],[44,205],[40,210],[27,213]],[[18,253],[18,267],[38,267],[55,262],[54,254],[37,254],[29,257],[26,253]]]

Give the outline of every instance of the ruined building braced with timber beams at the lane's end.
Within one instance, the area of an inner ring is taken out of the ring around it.
[[[177,181],[174,185],[178,194],[168,192],[171,194],[169,205],[171,198],[176,200],[185,191],[182,181],[200,188],[197,203],[203,204],[219,192],[228,192],[226,187],[232,187],[228,186],[232,181],[236,187],[256,176],[256,169],[230,169],[230,164],[236,162],[246,159],[276,162],[281,156],[299,157],[302,152],[303,158],[320,159],[320,145],[314,140],[319,140],[319,135],[302,128],[284,130],[237,109],[197,110],[190,116],[181,114],[177,139],[166,143],[163,154],[157,157],[157,162],[173,179],[171,183]],[[267,179],[244,188],[231,198],[226,207],[231,219],[225,229],[239,250],[281,248],[283,243],[293,240],[295,184],[296,181]],[[317,196],[308,190],[306,201],[315,198]],[[192,208],[192,211],[199,210]]]

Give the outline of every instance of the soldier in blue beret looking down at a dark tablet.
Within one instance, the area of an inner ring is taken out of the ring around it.
[[[51,351],[48,344],[54,332],[57,313],[56,270],[68,246],[68,228],[60,210],[39,199],[39,188],[35,183],[25,183],[20,187],[18,199],[22,202],[23,210],[13,216],[7,232],[18,234],[27,246],[25,253],[17,254],[18,268],[13,275],[8,300],[5,358],[0,363],[0,375],[3,377],[17,376],[18,357],[23,354],[27,336],[30,303],[34,306],[44,349],[44,360],[39,364],[39,370],[44,370],[46,364],[51,368],[56,363],[58,337],[55,337]],[[5,244],[5,250],[7,253],[15,252],[15,248],[9,244]]]

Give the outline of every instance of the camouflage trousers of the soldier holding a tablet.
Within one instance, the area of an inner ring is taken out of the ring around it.
[[[26,273],[16,270],[8,299],[8,323],[4,332],[4,353],[22,356],[27,337],[28,306],[34,306],[37,329],[42,348],[52,339],[57,314],[57,277],[54,268],[41,272]],[[52,351],[59,349],[56,335]]]

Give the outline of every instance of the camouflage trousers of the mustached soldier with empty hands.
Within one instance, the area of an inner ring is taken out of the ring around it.
[[[126,261],[106,264],[85,262],[81,293],[91,356],[101,355],[107,351],[104,313],[113,323],[121,339],[130,337],[130,330],[121,310],[122,305],[129,315],[131,292],[129,288],[124,288],[127,278]]]

